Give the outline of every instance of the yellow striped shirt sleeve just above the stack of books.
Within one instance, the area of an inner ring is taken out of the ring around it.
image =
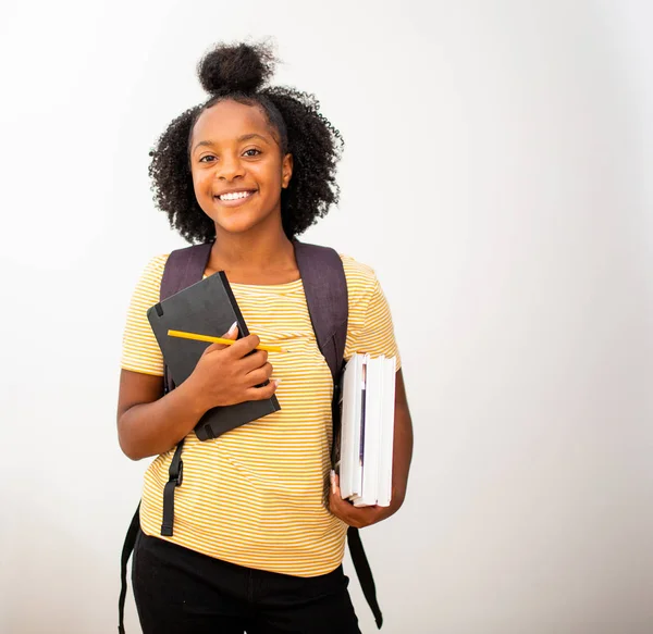
[[[349,360],[355,352],[365,352],[372,357],[381,355],[396,357],[398,371],[402,360],[387,300],[377,276],[371,273],[366,277],[365,288],[357,288],[356,282],[349,287],[349,326],[345,361]]]

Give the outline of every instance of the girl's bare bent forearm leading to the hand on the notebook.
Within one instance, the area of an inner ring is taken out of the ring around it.
[[[188,378],[165,396],[123,412],[118,420],[120,446],[132,460],[164,453],[193,431],[205,411]]]

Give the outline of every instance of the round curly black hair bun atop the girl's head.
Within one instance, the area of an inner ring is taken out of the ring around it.
[[[224,90],[254,92],[274,71],[270,47],[259,45],[220,45],[197,65],[202,88],[214,95]]]

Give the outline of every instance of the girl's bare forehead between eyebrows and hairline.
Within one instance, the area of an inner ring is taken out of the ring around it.
[[[201,140],[227,142],[250,133],[272,140],[270,124],[262,109],[259,105],[225,100],[211,105],[199,115],[193,128],[193,144]]]

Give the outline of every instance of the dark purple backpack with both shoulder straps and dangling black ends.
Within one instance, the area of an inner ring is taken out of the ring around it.
[[[195,245],[178,249],[170,253],[163,276],[161,278],[160,299],[178,293],[180,290],[199,282],[211,254],[213,243]],[[337,437],[340,427],[338,384],[340,374],[344,364],[345,341],[347,338],[348,296],[347,281],[343,263],[336,251],[328,247],[308,245],[293,240],[295,258],[306,295],[308,313],[316,334],[318,347],[322,352],[333,376],[333,438]],[[163,391],[168,394],[174,389],[174,384],[164,370]],[[174,523],[174,490],[182,485],[183,461],[182,449],[184,440],[176,446],[170,463],[169,481],[163,489],[163,522],[161,535],[171,536]],[[127,561],[134,550],[136,535],[140,526],[140,505],[136,509],[125,542],[121,558],[121,593],[119,598],[119,626],[120,634],[124,634],[124,608],[127,593]],[[383,616],[377,601],[374,580],[370,570],[358,529],[349,526],[347,530],[347,544],[354,569],[358,575],[365,598],[374,614],[377,626],[381,629]]]

